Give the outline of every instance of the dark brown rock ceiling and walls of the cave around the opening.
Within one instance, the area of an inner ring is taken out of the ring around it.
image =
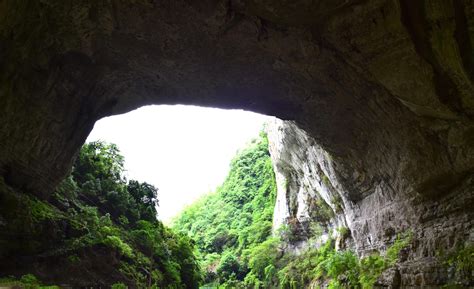
[[[240,108],[289,121],[303,161],[324,151],[359,251],[414,231],[410,284],[473,241],[471,1],[3,0],[0,32],[0,176],[18,193],[47,199],[105,116]]]

